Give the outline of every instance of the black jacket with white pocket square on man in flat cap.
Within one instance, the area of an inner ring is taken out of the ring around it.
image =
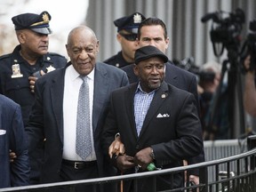
[[[199,155],[203,149],[203,140],[194,96],[164,82],[155,93],[138,137],[133,108],[137,86],[131,84],[111,94],[110,112],[102,133],[104,151],[108,152],[113,136],[120,132],[128,156],[151,147],[158,167],[181,166],[183,159]],[[131,172],[134,170],[128,171]],[[173,180],[168,176],[158,179],[157,190],[170,189],[171,182],[174,188],[183,184],[181,174],[175,175]],[[139,181],[141,186],[138,191],[151,191],[152,182],[148,179],[144,181]],[[130,184],[128,182],[125,189],[132,190]]]

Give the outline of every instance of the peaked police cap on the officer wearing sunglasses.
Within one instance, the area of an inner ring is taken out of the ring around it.
[[[140,22],[145,19],[144,15],[140,12],[135,12],[130,16],[114,20],[114,24],[117,27],[117,31],[124,29],[133,34],[137,34]]]

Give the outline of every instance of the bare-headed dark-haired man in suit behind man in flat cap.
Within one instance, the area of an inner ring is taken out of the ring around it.
[[[138,44],[139,47],[153,45],[165,53],[170,42],[164,21],[155,17],[147,18],[146,20],[141,21],[138,28]],[[138,82],[138,76],[134,74],[133,66],[134,65],[129,65],[122,68],[126,72],[130,84]],[[198,114],[200,114],[195,75],[174,66],[172,61],[168,60],[168,62],[165,63],[164,81],[168,84],[172,84],[175,87],[194,94],[196,98],[196,108]],[[122,147],[122,143],[120,144],[118,137],[116,137],[116,141],[109,147],[109,155],[124,152],[124,148],[118,148],[120,146]],[[194,156],[193,158],[188,159],[188,164],[197,164],[201,162],[204,162],[204,150],[202,150],[199,156]],[[199,176],[198,169],[188,172],[188,175],[190,175],[190,180],[193,180],[196,184],[199,184],[199,177],[197,177]],[[204,182],[204,177],[201,177],[201,180]]]

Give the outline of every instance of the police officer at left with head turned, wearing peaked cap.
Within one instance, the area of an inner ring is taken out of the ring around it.
[[[48,35],[52,33],[50,20],[49,12],[24,13],[12,17],[20,44],[12,53],[0,57],[0,93],[20,104],[24,125],[28,123],[34,102],[36,79],[67,63],[63,56],[48,52]],[[32,177],[33,167],[32,164]]]

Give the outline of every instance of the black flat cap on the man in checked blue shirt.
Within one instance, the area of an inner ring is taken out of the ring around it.
[[[141,60],[148,60],[152,57],[159,57],[164,60],[164,63],[168,61],[168,57],[158,50],[155,46],[148,45],[140,47],[135,52],[135,64],[138,64]]]

